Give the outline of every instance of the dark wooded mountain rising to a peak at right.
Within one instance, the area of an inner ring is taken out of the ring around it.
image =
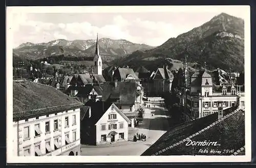
[[[204,66],[207,69],[244,70],[244,20],[221,13],[203,25],[169,38],[154,49],[135,51],[127,57],[115,60],[118,66],[129,65],[133,68],[144,66],[148,70],[169,65],[170,68],[182,67],[185,56],[191,67]],[[174,61],[176,60],[176,61]]]

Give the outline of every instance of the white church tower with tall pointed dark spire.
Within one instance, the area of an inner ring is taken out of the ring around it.
[[[97,34],[96,49],[95,49],[95,55],[94,55],[93,61],[94,61],[93,73],[96,75],[102,75],[102,59],[99,54],[98,34]]]

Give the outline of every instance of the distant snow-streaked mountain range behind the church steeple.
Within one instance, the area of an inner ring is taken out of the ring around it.
[[[137,44],[124,39],[113,40],[101,38],[98,41],[99,51],[102,58],[113,60],[126,54],[131,54],[136,50],[145,51],[153,47],[146,44]],[[26,59],[38,59],[57,55],[73,57],[91,57],[95,53],[96,39],[73,40],[57,39],[47,43],[26,42],[13,49],[13,55]]]

